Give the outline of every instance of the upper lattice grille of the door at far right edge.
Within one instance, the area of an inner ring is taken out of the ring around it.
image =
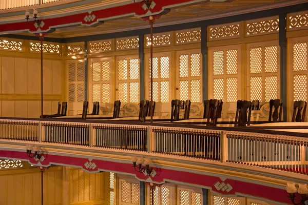
[[[293,46],[293,70],[307,70],[307,44],[299,43]]]

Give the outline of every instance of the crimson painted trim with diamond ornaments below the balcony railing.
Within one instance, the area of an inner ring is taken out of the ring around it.
[[[37,164],[33,158],[29,158],[25,152],[17,152],[17,151],[0,151],[0,157],[2,158],[14,158],[20,160],[29,160],[33,165]],[[44,154],[44,161],[41,162],[43,166],[54,165],[64,165],[71,167],[80,167],[89,172],[97,172],[99,170],[106,170],[130,175],[136,175],[137,178],[141,180],[146,180],[148,176],[145,176],[143,173],[136,172],[132,165],[129,163],[120,163],[120,162],[112,162],[112,161],[104,161],[93,159],[92,163],[95,163],[95,169],[87,169],[85,167],[85,163],[89,162],[87,158],[80,157],[71,157],[71,156],[58,156],[58,155],[50,155]],[[154,183],[162,183],[166,181],[178,181],[191,183],[194,185],[199,185],[203,187],[210,187],[213,191],[219,192],[224,195],[236,195],[237,193],[244,195],[251,195],[255,197],[261,197],[269,200],[279,201],[283,203],[290,203],[290,200],[287,198],[287,193],[285,190],[267,187],[263,185],[256,185],[254,183],[244,182],[240,180],[234,179],[226,179],[222,181],[219,177],[216,176],[207,176],[203,174],[195,174],[190,172],[183,171],[175,171],[169,169],[160,169],[155,168],[157,175],[155,177],[151,177]],[[220,183],[224,182],[225,184],[229,184],[233,187],[233,189],[227,193],[223,191],[218,191],[214,184],[219,181]],[[262,199],[261,199],[262,200]]]

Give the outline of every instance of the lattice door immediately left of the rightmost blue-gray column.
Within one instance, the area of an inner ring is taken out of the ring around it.
[[[278,42],[247,45],[248,100],[266,103],[280,98],[280,55]]]

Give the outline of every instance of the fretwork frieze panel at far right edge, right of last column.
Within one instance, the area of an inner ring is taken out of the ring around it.
[[[308,29],[308,11],[289,14],[287,28],[288,30]]]

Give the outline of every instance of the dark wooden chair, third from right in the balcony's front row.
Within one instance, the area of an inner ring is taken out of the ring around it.
[[[251,122],[251,114],[252,102],[247,100],[238,100],[236,104],[234,127],[245,127],[246,124],[249,126]]]

